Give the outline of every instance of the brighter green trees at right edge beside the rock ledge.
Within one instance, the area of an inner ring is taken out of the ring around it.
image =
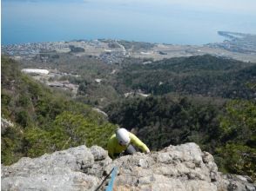
[[[216,149],[224,160],[220,164],[228,172],[256,179],[256,104],[253,101],[231,101],[226,115],[220,118],[221,140]]]

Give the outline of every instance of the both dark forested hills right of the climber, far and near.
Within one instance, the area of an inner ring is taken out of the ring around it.
[[[116,89],[147,98],[113,102],[111,122],[134,130],[150,148],[196,142],[224,172],[256,171],[256,64],[210,55],[127,62]]]

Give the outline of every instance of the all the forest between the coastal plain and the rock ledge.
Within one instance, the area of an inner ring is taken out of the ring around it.
[[[14,123],[2,129],[3,164],[81,144],[105,148],[118,125],[153,151],[196,142],[220,171],[256,180],[256,64],[210,55],[143,62],[127,57],[106,64],[60,54],[48,63],[40,56],[17,63],[2,56],[2,117]],[[20,72],[38,63],[79,75],[65,78],[79,86],[75,99]],[[133,94],[125,97],[127,92]]]

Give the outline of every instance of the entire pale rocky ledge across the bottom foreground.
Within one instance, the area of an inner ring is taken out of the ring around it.
[[[114,161],[98,146],[22,158],[2,166],[1,190],[103,190],[113,167],[118,167],[114,190],[256,190],[249,178],[219,173],[212,155],[195,143]]]

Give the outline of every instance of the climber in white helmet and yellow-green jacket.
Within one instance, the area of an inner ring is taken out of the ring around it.
[[[125,128],[118,128],[116,133],[111,135],[107,145],[109,156],[112,159],[121,154],[133,155],[137,152],[134,147],[139,148],[144,153],[150,152],[145,143],[141,142],[136,135],[128,132]]]

